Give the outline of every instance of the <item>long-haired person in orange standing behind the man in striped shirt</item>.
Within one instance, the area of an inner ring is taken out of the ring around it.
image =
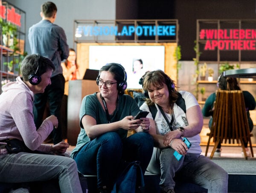
[[[76,51],[69,48],[69,56],[65,62],[61,62],[63,69],[63,76],[65,78],[64,96],[61,103],[61,129],[62,139],[67,139],[67,96],[68,96],[68,82],[70,80],[80,79],[78,65],[76,63]]]

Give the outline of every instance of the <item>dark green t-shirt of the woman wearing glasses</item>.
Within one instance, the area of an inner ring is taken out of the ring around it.
[[[110,115],[110,119],[111,122],[116,122],[122,120],[125,116],[135,116],[139,111],[139,106],[131,96],[126,94],[122,96],[119,95],[116,110],[113,112],[112,115]],[[90,140],[93,140],[87,136],[81,123],[84,115],[92,116],[96,120],[97,125],[108,123],[105,109],[102,108],[102,105],[99,102],[96,93],[85,96],[81,102],[81,108],[79,113],[81,130],[77,139],[76,148],[73,149],[70,155],[71,158],[73,158],[74,153],[78,152],[81,147],[83,147],[86,143],[90,142]],[[119,134],[121,139],[124,139],[127,136],[128,131],[120,128],[116,132]]]

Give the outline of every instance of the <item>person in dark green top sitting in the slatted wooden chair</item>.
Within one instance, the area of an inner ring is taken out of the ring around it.
[[[225,78],[223,76],[223,73],[221,73],[221,75],[218,77],[217,86],[219,89],[226,90],[226,91],[241,90],[236,78],[231,78],[231,77]],[[255,109],[256,102],[255,102],[253,95],[250,94],[248,91],[243,91],[243,95],[244,95],[244,102],[245,102],[245,107],[246,107],[248,123],[249,123],[249,129],[251,132],[253,130],[253,121],[250,118],[249,111]],[[213,115],[213,110],[214,110],[215,99],[216,99],[216,93],[212,93],[205,101],[204,108],[202,109],[203,116],[211,116],[211,118],[209,120],[209,128],[210,129],[212,127],[212,115]],[[250,155],[250,151],[248,149],[248,142],[244,141],[244,146],[245,146],[247,156],[250,157],[251,155]],[[241,153],[244,156],[244,153],[243,152],[241,152]],[[214,156],[215,157],[221,156],[221,143],[218,144],[217,149],[214,152]]]

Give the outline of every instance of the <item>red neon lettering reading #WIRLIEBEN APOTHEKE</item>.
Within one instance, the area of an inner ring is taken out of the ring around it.
[[[256,29],[201,29],[204,50],[256,50]]]

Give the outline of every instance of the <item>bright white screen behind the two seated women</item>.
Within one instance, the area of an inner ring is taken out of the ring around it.
[[[107,63],[121,64],[127,73],[127,88],[140,89],[146,71],[164,71],[163,45],[90,45],[89,68],[99,70]]]

